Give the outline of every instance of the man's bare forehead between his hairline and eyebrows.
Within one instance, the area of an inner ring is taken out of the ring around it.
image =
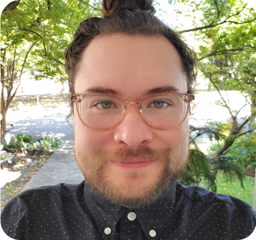
[[[101,35],[82,54],[75,93],[91,87],[113,88],[124,98],[140,98],[147,89],[174,86],[186,92],[179,53],[164,36]]]

